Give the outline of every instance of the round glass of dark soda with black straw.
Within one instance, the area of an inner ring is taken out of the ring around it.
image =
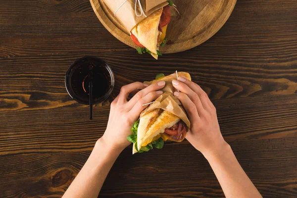
[[[84,56],[74,61],[65,76],[68,94],[77,102],[89,104],[90,79],[92,79],[92,101],[107,99],[114,86],[114,75],[108,64],[96,56]]]

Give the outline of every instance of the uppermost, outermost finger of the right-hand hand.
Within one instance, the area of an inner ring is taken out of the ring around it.
[[[178,77],[178,80],[185,83],[198,95],[204,109],[209,109],[210,99],[208,98],[207,94],[201,89],[199,85],[183,77]]]

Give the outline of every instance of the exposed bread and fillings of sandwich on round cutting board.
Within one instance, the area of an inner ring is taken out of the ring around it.
[[[171,19],[170,5],[166,5],[142,20],[137,24],[130,36],[132,41],[139,47],[139,53],[150,53],[155,59],[159,52],[159,46],[164,46],[166,43],[166,30]]]

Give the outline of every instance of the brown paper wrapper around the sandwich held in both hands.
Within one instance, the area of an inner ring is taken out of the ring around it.
[[[164,79],[161,79],[160,81],[163,81]],[[150,82],[144,82],[145,84],[151,85],[152,83],[156,83],[158,81],[153,80]],[[140,114],[140,117],[143,117],[144,115],[148,114],[150,111],[160,108],[165,111],[168,111],[179,118],[183,120],[188,130],[190,129],[190,120],[187,117],[186,111],[180,101],[173,96],[173,93],[177,90],[172,85],[172,79],[165,80],[165,87],[162,89],[164,94],[162,94],[159,98],[157,98],[153,103],[151,103],[143,112]]]

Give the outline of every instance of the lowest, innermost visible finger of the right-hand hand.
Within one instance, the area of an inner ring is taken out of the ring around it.
[[[200,119],[195,103],[186,95],[181,92],[174,92],[174,96],[181,101],[185,110],[188,113],[190,122],[194,124],[197,120]]]

